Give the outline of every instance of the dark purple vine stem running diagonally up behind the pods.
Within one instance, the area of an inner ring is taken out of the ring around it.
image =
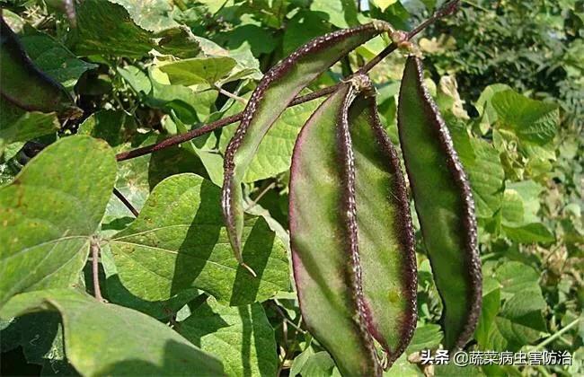
[[[429,25],[438,21],[440,18],[443,18],[443,17],[446,17],[450,14],[455,13],[456,9],[458,8],[459,3],[460,3],[460,0],[454,0],[454,1],[451,1],[447,4],[444,4],[444,6],[442,6],[440,9],[438,9],[438,11],[436,11],[436,13],[434,13],[431,17],[429,17],[428,20],[421,22],[420,25],[418,25],[415,29],[408,32],[406,35],[406,39],[410,40],[410,39],[414,38],[416,35],[420,34],[421,31],[428,28]],[[389,54],[394,52],[394,50],[397,48],[398,48],[398,46],[396,43],[390,44],[389,46],[384,48],[378,55],[376,55],[376,57],[373,57],[365,66],[362,66],[361,69],[358,70],[358,74],[366,74],[374,66],[379,64],[385,57],[387,57]],[[335,85],[321,89],[320,91],[312,92],[312,93],[309,93],[309,94],[306,94],[303,96],[296,97],[294,100],[292,100],[290,102],[288,107],[296,106],[296,105],[299,105],[301,103],[305,103],[308,101],[313,101],[317,98],[321,98],[321,97],[324,97],[325,95],[331,94],[332,92],[334,92],[337,89],[339,84],[340,83],[337,83]],[[214,122],[208,123],[202,127],[195,128],[195,129],[190,130],[189,132],[186,132],[184,134],[169,137],[167,139],[164,139],[160,143],[156,143],[153,145],[146,145],[146,146],[142,146],[142,147],[137,148],[137,149],[133,149],[131,151],[118,153],[116,155],[116,160],[126,161],[126,160],[129,160],[132,158],[137,158],[137,157],[149,154],[149,153],[155,153],[156,151],[160,151],[161,149],[168,148],[168,147],[171,147],[174,145],[180,145],[180,144],[185,143],[191,139],[194,139],[195,137],[203,136],[203,135],[208,134],[209,132],[213,132],[216,129],[219,129],[221,127],[226,127],[227,125],[230,125],[232,123],[239,122],[242,120],[242,118],[243,118],[243,112],[240,112],[238,114],[232,115],[231,117],[222,118],[222,119],[216,120]]]

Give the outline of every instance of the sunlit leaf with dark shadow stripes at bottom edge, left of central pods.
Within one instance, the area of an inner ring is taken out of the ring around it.
[[[259,303],[227,307],[213,298],[178,324],[195,346],[216,355],[230,376],[273,376],[278,373],[274,329]]]

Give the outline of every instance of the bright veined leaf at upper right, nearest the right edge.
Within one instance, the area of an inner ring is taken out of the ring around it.
[[[544,145],[553,140],[559,122],[558,106],[531,100],[512,90],[492,96],[492,107],[503,127],[509,127],[521,142]]]

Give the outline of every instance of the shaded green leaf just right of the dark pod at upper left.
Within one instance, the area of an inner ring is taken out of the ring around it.
[[[73,90],[79,77],[86,71],[98,67],[75,57],[56,39],[30,26],[24,28],[20,39],[32,61],[67,90]]]

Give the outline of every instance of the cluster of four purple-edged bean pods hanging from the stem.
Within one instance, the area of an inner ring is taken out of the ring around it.
[[[242,259],[245,169],[288,104],[385,23],[335,31],[299,48],[259,83],[226,149],[222,206]],[[481,309],[473,197],[447,126],[408,58],[398,129],[411,194],[443,303],[443,345],[465,346]],[[343,375],[381,375],[403,354],[417,311],[417,267],[400,160],[377,115],[367,75],[353,75],[306,121],[292,156],[290,243],[306,328]]]

